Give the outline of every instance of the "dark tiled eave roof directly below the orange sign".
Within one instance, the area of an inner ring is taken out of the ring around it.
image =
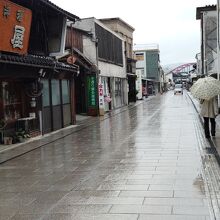
[[[9,63],[9,64],[17,64],[17,65],[33,66],[33,67],[44,67],[44,68],[51,68],[57,70],[66,70],[70,72],[77,72],[78,70],[78,66],[76,65],[68,65],[61,62],[57,62],[51,57],[41,57],[35,55],[18,56],[18,55],[1,54],[0,63]]]

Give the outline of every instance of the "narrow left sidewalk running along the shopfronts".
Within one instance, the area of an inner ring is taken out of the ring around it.
[[[148,97],[145,100],[150,100],[154,96]],[[145,100],[138,100],[136,103],[130,103],[128,106],[124,106],[118,109],[114,109],[111,112],[106,113],[104,116],[92,117],[92,116],[77,116],[77,124],[71,125],[66,128],[60,129],[58,131],[51,132],[49,134],[38,136],[35,138],[30,138],[24,143],[12,144],[12,145],[0,145],[0,164],[15,158],[17,156],[28,153],[34,149],[47,145],[49,143],[55,142],[63,137],[66,137],[74,132],[77,132],[83,128],[86,128],[92,124],[99,121],[105,120],[113,115],[119,114],[126,111],[128,108],[133,108],[141,104]]]

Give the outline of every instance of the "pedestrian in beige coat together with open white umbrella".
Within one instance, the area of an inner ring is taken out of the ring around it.
[[[220,81],[215,77],[200,78],[190,88],[194,98],[200,100],[200,114],[204,119],[204,131],[206,138],[210,138],[209,123],[211,123],[211,135],[215,136],[215,118],[218,115],[217,97],[220,94]]]

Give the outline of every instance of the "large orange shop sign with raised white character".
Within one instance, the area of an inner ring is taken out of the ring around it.
[[[27,53],[31,19],[31,10],[0,0],[0,51]]]

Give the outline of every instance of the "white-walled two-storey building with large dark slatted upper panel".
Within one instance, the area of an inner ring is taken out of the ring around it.
[[[94,17],[81,19],[74,27],[88,31],[93,41],[83,40],[83,53],[97,64],[100,74],[99,107],[104,111],[128,104],[124,40]]]

